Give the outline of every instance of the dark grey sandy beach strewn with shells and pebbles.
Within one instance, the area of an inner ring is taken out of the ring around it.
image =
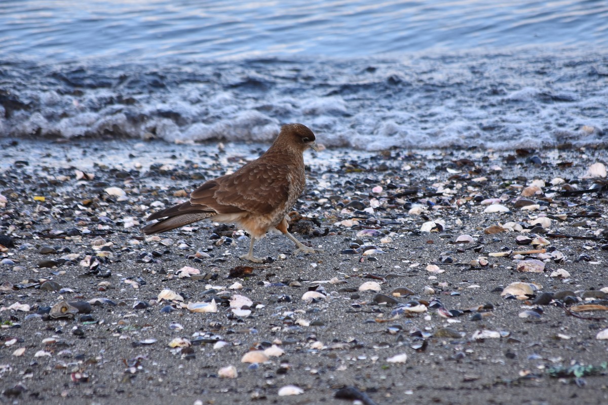
[[[233,228],[139,228],[264,145],[0,146],[0,403],[608,402],[606,151],[307,152],[292,230],[322,252],[270,235],[251,265]]]

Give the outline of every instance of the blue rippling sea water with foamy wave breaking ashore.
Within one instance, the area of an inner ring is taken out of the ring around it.
[[[608,145],[606,1],[0,2],[0,134]]]

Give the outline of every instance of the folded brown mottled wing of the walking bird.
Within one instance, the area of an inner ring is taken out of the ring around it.
[[[288,200],[288,179],[287,166],[256,160],[205,183],[190,194],[190,203],[208,206],[218,214],[269,214]]]

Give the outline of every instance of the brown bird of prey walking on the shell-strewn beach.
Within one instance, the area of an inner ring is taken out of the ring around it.
[[[190,193],[189,201],[152,214],[149,221],[160,221],[145,226],[143,233],[161,233],[210,218],[215,222],[237,223],[249,233],[249,253],[241,259],[264,262],[254,256],[254,243],[274,230],[295,242],[294,254],[314,253],[313,248],[306,247],[287,231],[286,217],[304,191],[303,152],[308,148],[317,150],[313,131],[302,124],[283,125],[263,155],[232,174],[204,183]]]

